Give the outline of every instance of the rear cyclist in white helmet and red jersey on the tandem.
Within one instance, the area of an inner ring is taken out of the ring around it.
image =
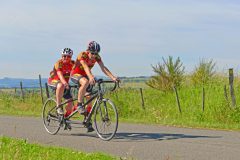
[[[69,78],[70,72],[74,65],[74,61],[71,60],[73,51],[70,48],[64,48],[62,51],[62,58],[59,59],[50,72],[50,77],[48,79],[48,86],[56,90],[56,101],[57,106],[61,104],[62,97],[65,99],[71,99],[72,95],[69,90]],[[66,107],[65,116],[68,116],[72,112],[72,102],[68,103]],[[60,115],[64,114],[63,108],[57,108],[57,113]]]

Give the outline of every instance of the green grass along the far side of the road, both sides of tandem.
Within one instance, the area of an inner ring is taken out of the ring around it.
[[[178,89],[182,113],[179,112],[174,92],[161,92],[141,83],[123,83],[116,92],[105,97],[117,106],[120,121],[153,123],[183,127],[240,129],[240,82],[235,80],[237,105],[232,107],[228,90],[228,101],[224,96],[224,85],[228,79],[216,79],[205,86],[205,108],[202,109],[202,86],[193,86],[188,81]],[[144,108],[140,89],[143,88]],[[229,88],[229,87],[228,87]],[[228,89],[227,88],[227,89]],[[0,114],[41,115],[42,103],[38,94],[20,96],[0,94]]]

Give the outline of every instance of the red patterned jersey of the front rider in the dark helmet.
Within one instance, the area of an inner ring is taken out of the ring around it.
[[[88,67],[90,69],[92,69],[92,67],[94,66],[94,64],[96,62],[98,62],[98,63],[101,62],[101,57],[99,56],[99,54],[97,54],[94,59],[90,59],[88,54],[89,54],[88,51],[79,53],[76,63],[73,66],[73,70],[71,72],[72,76],[77,75],[77,74],[82,75],[82,76],[87,76],[82,64],[80,63],[80,61],[82,61],[82,60],[85,61],[85,63],[88,65]]]

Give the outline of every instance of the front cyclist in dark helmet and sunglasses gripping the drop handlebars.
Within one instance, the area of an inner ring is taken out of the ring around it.
[[[118,78],[114,76],[104,65],[99,55],[99,52],[100,45],[95,41],[91,41],[88,44],[87,50],[79,53],[75,65],[73,67],[73,70],[71,72],[72,82],[79,84],[80,86],[78,91],[78,103],[77,103],[77,109],[80,114],[85,114],[87,112],[86,109],[83,107],[83,98],[89,84],[90,85],[95,84],[94,75],[92,74],[91,69],[93,68],[96,62],[99,64],[103,73],[105,73],[113,81],[118,81]],[[90,106],[88,106],[88,108],[91,108],[91,104]],[[89,124],[87,128],[88,132],[94,130],[91,124]]]

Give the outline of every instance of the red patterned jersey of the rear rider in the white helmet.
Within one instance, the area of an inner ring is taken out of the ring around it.
[[[69,63],[64,63],[62,59],[58,60],[53,67],[53,70],[50,72],[50,79],[51,80],[60,80],[57,72],[61,71],[63,77],[68,82],[72,67],[74,65],[74,61],[70,61]]]

